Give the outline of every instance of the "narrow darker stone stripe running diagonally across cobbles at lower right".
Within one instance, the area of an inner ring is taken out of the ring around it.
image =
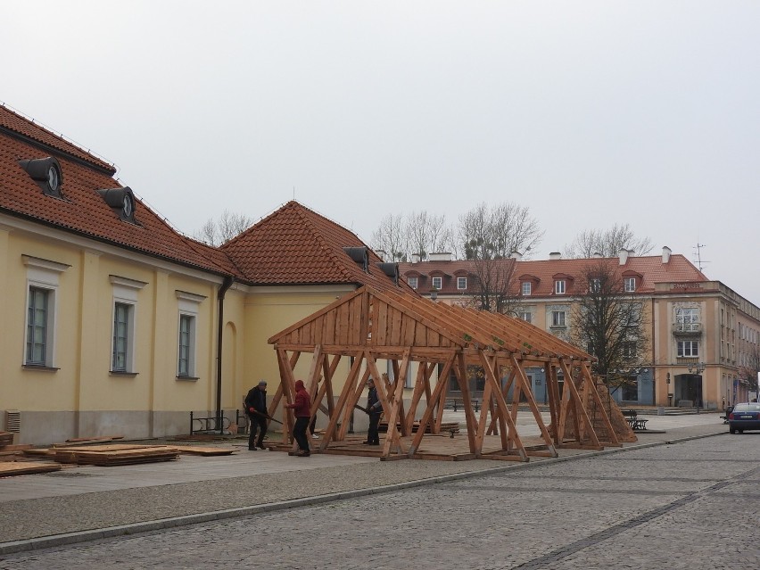
[[[710,494],[715,495],[716,492],[720,491],[721,489],[728,487],[729,485],[738,483],[739,480],[744,480],[746,477],[753,476],[758,472],[760,472],[760,467],[750,469],[746,473],[734,475],[727,481],[715,483],[714,485],[711,485],[710,487],[707,487],[706,489],[702,489],[697,492],[690,492],[685,497],[682,497],[681,499],[673,500],[672,502],[667,503],[666,505],[663,505],[662,507],[653,508],[647,511],[646,513],[641,514],[640,516],[634,516],[633,518],[627,521],[624,521],[623,523],[610,526],[609,528],[603,531],[600,531],[599,533],[591,534],[591,536],[588,536],[580,541],[575,541],[571,544],[567,544],[566,546],[553,550],[552,552],[549,552],[548,554],[545,554],[539,558],[533,558],[533,560],[529,560],[528,562],[525,562],[524,564],[515,566],[512,570],[544,570],[547,568],[554,570],[558,567],[557,563],[562,558],[566,558],[568,556],[576,554],[580,550],[586,549],[590,546],[595,546],[599,544],[599,542],[607,541],[617,536],[618,534],[624,533],[625,531],[632,529],[636,526],[643,525],[644,523],[648,523],[649,521],[657,518],[658,516],[663,516],[665,515],[665,513],[668,513],[675,508],[681,508],[684,505],[688,505],[689,503],[695,500],[705,497],[706,495],[710,495]]]

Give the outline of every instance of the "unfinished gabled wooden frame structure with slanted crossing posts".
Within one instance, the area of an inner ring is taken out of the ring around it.
[[[270,415],[277,410],[283,396],[286,401],[293,401],[295,365],[302,353],[312,355],[309,376],[303,378],[310,394],[316,391],[311,414],[314,417],[321,408],[326,409],[328,417],[324,437],[315,451],[379,455],[385,460],[527,461],[532,455],[557,457],[560,447],[602,449],[603,445],[621,445],[591,377],[592,357],[521,319],[365,286],[289,326],[272,336],[268,343],[277,351],[281,379],[269,407]],[[351,359],[351,367],[335,401],[335,371],[343,358]],[[382,375],[376,365],[378,359],[390,361],[394,378],[400,379],[407,377],[412,362],[418,363],[409,409],[404,408],[404,382],[392,382],[387,375]],[[485,376],[483,406],[479,413],[473,409],[467,383],[467,366],[470,365],[482,367]],[[439,366],[441,381],[433,387],[430,379]],[[550,427],[541,419],[525,374],[525,368],[536,366],[549,371]],[[430,449],[423,453],[420,445],[425,434],[429,434],[428,440],[441,435],[450,372],[458,379],[464,401],[468,451],[436,452],[434,442],[426,440],[425,446]],[[565,378],[561,393],[558,372]],[[380,450],[357,449],[359,446],[349,450],[342,442],[346,439],[351,412],[369,376],[376,379],[387,433]],[[500,378],[504,377],[507,380],[502,384]],[[378,382],[380,378],[384,381]],[[319,380],[324,381],[319,384]],[[514,391],[512,402],[507,399],[510,389]],[[521,395],[540,428],[538,445],[525,445],[518,434],[517,402]],[[424,409],[420,408],[423,396]],[[325,400],[326,407],[322,403]],[[422,410],[418,423],[415,421],[417,409]],[[293,412],[285,410],[285,444],[292,444],[292,425]],[[599,425],[604,429],[599,430]],[[604,440],[597,431],[604,434]],[[484,449],[486,437],[497,441],[495,450]]]

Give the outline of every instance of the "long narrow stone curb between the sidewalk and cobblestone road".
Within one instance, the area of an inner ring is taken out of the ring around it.
[[[725,435],[728,432],[721,431],[713,434],[698,434],[690,435],[688,437],[682,437],[679,439],[666,440],[661,442],[641,443],[639,445],[631,445],[628,447],[612,448],[601,451],[589,451],[586,453],[579,453],[577,455],[568,455],[564,458],[545,458],[540,461],[530,461],[527,463],[515,463],[502,467],[491,467],[488,469],[480,469],[477,471],[467,471],[465,473],[454,473],[450,475],[436,475],[434,477],[428,477],[425,479],[416,479],[414,481],[405,481],[403,483],[391,483],[388,485],[382,485],[378,487],[368,487],[367,489],[355,489],[353,491],[343,491],[335,493],[327,493],[324,495],[317,495],[314,497],[305,497],[302,499],[291,499],[277,501],[274,503],[266,503],[263,505],[252,505],[249,507],[239,508],[226,508],[218,511],[211,511],[208,513],[198,513],[195,515],[185,516],[173,516],[170,518],[161,518],[153,521],[145,521],[143,523],[133,523],[131,525],[109,526],[102,529],[94,529],[89,531],[78,531],[76,533],[64,533],[54,534],[51,536],[43,536],[39,538],[0,542],[0,556],[6,554],[15,554],[19,552],[27,552],[30,550],[54,548],[58,546],[66,546],[70,544],[77,544],[78,542],[97,541],[105,538],[113,538],[117,536],[128,536],[136,533],[146,533],[151,531],[160,531],[171,528],[177,528],[178,526],[195,525],[198,523],[208,523],[211,521],[219,521],[227,518],[235,518],[239,516],[252,516],[260,515],[263,513],[270,513],[278,510],[285,510],[287,508],[297,507],[309,507],[311,505],[320,505],[327,502],[343,499],[355,499],[357,497],[363,497],[368,495],[377,495],[385,492],[402,491],[404,489],[412,489],[414,487],[421,487],[429,484],[437,483],[449,483],[451,481],[458,481],[461,479],[470,479],[473,477],[481,477],[484,475],[493,475],[497,473],[503,473],[504,471],[510,471],[515,469],[531,469],[533,467],[541,467],[548,463],[558,463],[564,461],[571,461],[579,458],[591,458],[598,457],[600,455],[608,455],[612,453],[621,453],[624,451],[641,450],[650,447],[656,447],[658,445],[672,445],[674,443],[688,442],[690,440],[698,440],[706,437],[713,437],[715,435]]]

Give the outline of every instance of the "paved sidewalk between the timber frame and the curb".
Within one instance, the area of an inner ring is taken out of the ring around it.
[[[518,425],[520,434],[531,429],[529,422]],[[559,450],[559,458],[531,458],[528,463],[379,461],[321,454],[295,458],[248,451],[247,442],[236,440],[239,451],[229,456],[183,455],[163,463],[70,467],[0,478],[0,555],[728,434],[717,413],[650,417],[648,427],[665,433],[637,434],[639,442],[622,449]]]

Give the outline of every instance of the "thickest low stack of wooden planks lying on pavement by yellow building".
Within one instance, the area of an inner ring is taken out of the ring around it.
[[[179,450],[168,445],[90,445],[87,447],[55,447],[52,458],[59,463],[77,465],[134,465],[170,461],[179,457]]]

